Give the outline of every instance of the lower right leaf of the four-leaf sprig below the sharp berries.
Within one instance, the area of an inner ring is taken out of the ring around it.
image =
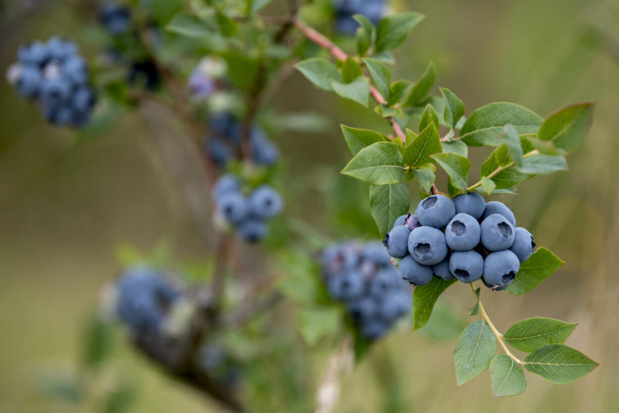
[[[524,367],[552,383],[565,384],[589,374],[599,363],[565,344],[548,344],[524,359]]]

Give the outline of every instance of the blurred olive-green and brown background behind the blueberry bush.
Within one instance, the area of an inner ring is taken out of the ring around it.
[[[33,9],[28,1],[1,4],[2,71],[14,61],[20,43],[57,33],[81,41],[87,18],[94,16],[69,1],[42,2]],[[275,1],[273,11],[282,4]],[[467,115],[486,103],[508,101],[546,117],[568,103],[597,100],[589,137],[568,157],[570,172],[525,181],[518,196],[500,199],[535,235],[537,245],[567,263],[524,297],[487,291],[482,297],[501,331],[531,316],[578,322],[566,344],[600,366],[570,385],[552,385],[526,373],[526,393],[493,399],[488,372],[456,388],[452,350],[457,334],[437,341],[423,329],[395,331],[345,378],[337,411],[386,411],[377,359],[391,359],[395,366],[390,374],[405,406],[399,411],[617,411],[619,4],[417,0],[397,1],[394,7],[422,12],[426,19],[396,50],[392,79],[417,79],[434,61],[436,86],[457,93]],[[96,54],[87,44],[82,50]],[[326,133],[274,136],[285,160],[287,218],[303,219],[333,240],[378,239],[368,188],[337,175],[350,156],[339,123],[385,132],[386,125],[370,110],[314,89],[299,74],[275,102],[282,113],[315,111],[332,121]],[[145,115],[127,113],[104,135],[79,139],[49,127],[37,108],[0,82],[1,412],[76,410],[50,401],[41,389],[50,375],[74,374],[84,321],[95,311],[102,285],[119,271],[118,256],[126,245],[142,251],[165,245],[176,262],[212,253],[186,202],[191,186],[181,184],[157,138],[178,129],[165,129]],[[489,152],[470,151],[471,182]],[[445,176],[438,175],[437,185],[445,188]],[[417,190],[412,194],[416,204]],[[334,204],[337,213],[326,218],[324,211]],[[204,217],[208,225],[210,211]],[[466,320],[467,286],[449,289],[442,301],[459,311],[456,326],[472,321]],[[113,365],[114,374],[136,388],[131,411],[217,411],[200,394],[160,375],[121,334]],[[317,364],[313,370],[321,368]],[[109,384],[105,378],[98,383]]]

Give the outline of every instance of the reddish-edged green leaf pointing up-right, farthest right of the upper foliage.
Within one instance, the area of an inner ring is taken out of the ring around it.
[[[570,152],[587,136],[593,123],[595,102],[577,103],[551,115],[542,124],[539,138]]]

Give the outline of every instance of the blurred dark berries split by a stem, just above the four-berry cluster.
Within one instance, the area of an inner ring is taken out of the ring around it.
[[[209,122],[213,134],[206,139],[206,151],[219,167],[225,167],[236,154],[241,152],[241,123],[229,113],[213,116]],[[279,147],[259,126],[249,134],[249,152],[256,165],[275,165],[280,159]]]

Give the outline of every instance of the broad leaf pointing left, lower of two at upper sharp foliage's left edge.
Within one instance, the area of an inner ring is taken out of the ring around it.
[[[391,185],[404,181],[402,155],[393,142],[376,142],[361,149],[342,170],[372,185]]]

